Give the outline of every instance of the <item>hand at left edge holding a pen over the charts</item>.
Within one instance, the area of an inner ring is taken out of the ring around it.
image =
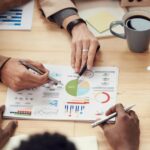
[[[1,69],[1,81],[15,91],[38,87],[48,82],[48,70],[41,63],[31,60],[26,62],[45,73],[33,74],[18,59],[12,58]]]

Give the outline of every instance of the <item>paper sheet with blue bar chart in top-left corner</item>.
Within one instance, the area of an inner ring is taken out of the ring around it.
[[[34,1],[0,14],[0,30],[30,30]]]

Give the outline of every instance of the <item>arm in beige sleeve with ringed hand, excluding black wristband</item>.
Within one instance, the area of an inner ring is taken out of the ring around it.
[[[80,19],[77,8],[71,0],[40,0],[45,16],[59,26],[67,30],[68,25]],[[43,3],[45,2],[45,5]],[[96,37],[88,30],[84,22],[73,26],[71,30],[72,52],[71,65],[79,72],[81,67],[87,62],[88,69],[91,69],[99,46]]]

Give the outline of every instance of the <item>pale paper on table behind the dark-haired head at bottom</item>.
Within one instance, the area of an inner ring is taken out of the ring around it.
[[[13,150],[20,145],[22,140],[28,140],[29,135],[18,135],[12,137],[2,150]],[[97,140],[95,136],[87,137],[69,137],[75,143],[77,150],[98,150]]]

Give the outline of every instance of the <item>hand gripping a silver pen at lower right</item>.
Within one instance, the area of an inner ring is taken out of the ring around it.
[[[114,150],[139,149],[139,119],[134,111],[126,113],[121,104],[110,108],[106,115],[117,112],[115,124],[102,124],[106,139]]]

